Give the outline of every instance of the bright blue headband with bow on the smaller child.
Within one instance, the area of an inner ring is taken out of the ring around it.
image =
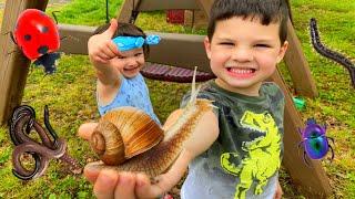
[[[112,39],[113,43],[120,51],[130,51],[133,49],[142,48],[143,44],[155,45],[160,42],[159,35],[148,35],[144,40],[142,36],[116,36]]]

